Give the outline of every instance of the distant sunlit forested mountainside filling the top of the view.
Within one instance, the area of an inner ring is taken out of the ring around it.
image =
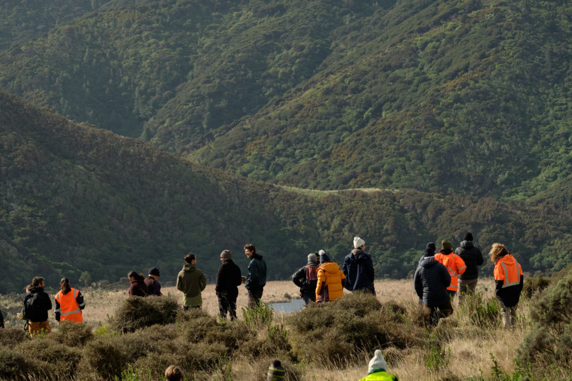
[[[255,180],[526,200],[572,173],[567,1],[2,4],[0,88]]]

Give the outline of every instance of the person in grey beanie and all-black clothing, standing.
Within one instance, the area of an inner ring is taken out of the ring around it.
[[[216,273],[215,293],[219,298],[220,317],[227,319],[227,312],[231,321],[236,319],[236,298],[239,296],[239,285],[242,282],[240,267],[232,260],[232,252],[223,250],[220,253],[222,264]]]

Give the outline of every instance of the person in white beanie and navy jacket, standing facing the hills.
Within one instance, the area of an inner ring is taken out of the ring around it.
[[[366,242],[360,237],[354,237],[353,247],[351,253],[345,257],[342,267],[347,279],[344,287],[349,291],[364,290],[375,295],[374,263],[371,261],[371,256],[364,251]]]

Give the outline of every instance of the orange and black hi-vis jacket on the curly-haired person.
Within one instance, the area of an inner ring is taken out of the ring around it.
[[[505,307],[517,305],[524,285],[521,264],[511,254],[499,257],[495,262],[494,276],[497,299]]]

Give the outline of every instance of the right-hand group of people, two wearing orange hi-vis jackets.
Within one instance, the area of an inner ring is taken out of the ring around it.
[[[479,266],[484,260],[472,240],[472,234],[467,232],[454,252],[451,242],[443,240],[438,253],[435,253],[435,243],[430,242],[419,259],[413,278],[415,292],[419,302],[430,309],[432,324],[451,315],[451,301],[456,293],[460,304],[464,297],[475,292]],[[522,267],[503,244],[493,244],[489,255],[495,264],[495,294],[501,304],[503,326],[511,328],[516,323],[517,304],[524,284]]]

